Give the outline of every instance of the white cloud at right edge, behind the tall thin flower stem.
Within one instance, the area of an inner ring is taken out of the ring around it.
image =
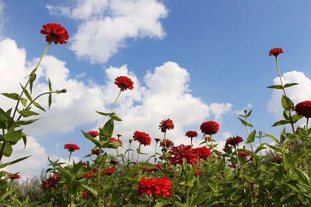
[[[273,81],[276,85],[281,84],[279,78],[275,78]],[[286,96],[288,96],[295,105],[301,101],[311,100],[311,91],[306,90],[311,88],[311,80],[306,77],[304,73],[298,71],[284,73],[282,76],[282,82],[283,84],[299,83],[298,85],[285,88]],[[282,95],[282,90],[274,89],[272,92],[272,99],[269,101],[268,104],[269,112],[274,114],[276,120],[284,119],[282,115],[284,109],[281,105]],[[299,120],[298,124],[302,127],[305,124],[305,120]]]

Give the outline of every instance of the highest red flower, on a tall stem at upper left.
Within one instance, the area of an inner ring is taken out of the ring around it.
[[[65,28],[57,23],[47,23],[42,26],[41,34],[46,34],[46,41],[50,42],[53,38],[54,44],[67,44],[65,40],[69,39],[69,35]]]

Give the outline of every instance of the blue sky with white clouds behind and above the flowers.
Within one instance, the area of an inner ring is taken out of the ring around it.
[[[68,160],[66,143],[80,145],[72,154],[76,160],[88,154],[90,143],[80,129],[104,125],[106,119],[95,110],[110,111],[117,76],[130,77],[135,87],[122,92],[114,110],[123,119],[114,133],[123,135],[123,150],[136,130],[163,138],[158,125],[167,118],[174,121],[168,138],[176,144],[190,144],[185,132],[200,132],[209,120],[220,123],[213,137],[220,145],[230,136],[246,140],[246,128],[236,118],[244,109],[253,109],[254,129],[278,137],[282,127],[270,126],[282,118],[281,93],[266,88],[279,81],[275,58],[268,56],[271,48],[284,50],[279,56],[284,81],[300,83],[287,95],[295,104],[310,100],[308,0],[0,0],[0,8],[0,71],[5,74],[0,93],[20,93],[18,82],[47,45],[43,24],[56,22],[69,32],[67,45],[49,48],[34,86],[35,94],[46,92],[50,77],[53,89],[68,93],[54,96],[51,110],[24,128],[29,144],[26,149],[17,145],[18,155],[11,159],[33,155],[23,161],[27,168],[7,169],[24,177],[46,167],[47,156]],[[1,108],[13,107],[7,98],[0,100]],[[47,97],[40,99],[41,105],[46,102]]]

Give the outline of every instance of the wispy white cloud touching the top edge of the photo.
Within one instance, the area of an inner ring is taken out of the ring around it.
[[[71,50],[91,63],[105,63],[126,47],[128,38],[165,36],[160,19],[168,15],[168,10],[156,0],[78,0],[74,8],[47,8],[51,14],[63,14],[79,22],[77,33],[70,38]]]

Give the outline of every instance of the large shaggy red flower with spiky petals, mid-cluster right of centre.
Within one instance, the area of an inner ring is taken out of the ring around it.
[[[182,164],[186,159],[188,164],[194,164],[199,161],[198,154],[192,149],[191,145],[185,146],[180,144],[179,146],[173,146],[170,154],[174,157],[169,158],[171,162]]]

